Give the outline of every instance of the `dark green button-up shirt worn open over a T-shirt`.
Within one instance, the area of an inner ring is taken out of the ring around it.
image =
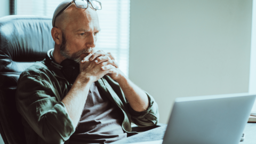
[[[147,92],[149,107],[138,112],[131,108],[119,84],[109,76],[95,83],[104,96],[123,111],[122,128],[128,136],[137,134],[132,132],[131,122],[142,127],[157,124],[158,106]],[[46,66],[45,61],[36,62],[20,75],[15,99],[28,144],[64,143],[75,132],[76,125],[61,102],[71,86],[59,69]]]

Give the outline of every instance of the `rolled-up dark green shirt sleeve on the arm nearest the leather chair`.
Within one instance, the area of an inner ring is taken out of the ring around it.
[[[75,132],[67,108],[41,77],[22,75],[15,100],[19,113],[45,142],[63,143]]]

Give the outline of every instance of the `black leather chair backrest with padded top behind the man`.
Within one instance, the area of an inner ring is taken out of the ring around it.
[[[34,15],[0,18],[0,133],[6,143],[26,143],[15,105],[17,81],[23,70],[42,61],[54,47],[52,19]]]

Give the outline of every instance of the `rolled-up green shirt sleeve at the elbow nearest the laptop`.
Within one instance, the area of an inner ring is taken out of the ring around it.
[[[154,98],[146,92],[149,101],[149,107],[145,111],[135,111],[129,104],[129,110],[132,122],[140,127],[156,125],[159,121],[158,106]]]

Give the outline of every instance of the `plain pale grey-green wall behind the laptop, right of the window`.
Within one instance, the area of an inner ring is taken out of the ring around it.
[[[252,0],[131,0],[129,78],[167,123],[177,97],[248,92]]]

